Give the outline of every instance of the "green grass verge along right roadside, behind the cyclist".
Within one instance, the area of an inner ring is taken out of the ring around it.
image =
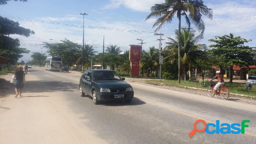
[[[168,86],[187,86],[187,87],[195,87],[195,88],[202,88],[202,89],[207,89],[208,87],[202,87],[198,81],[181,81],[181,83],[178,83],[175,80],[146,80],[145,82],[147,83],[163,83]],[[231,93],[236,93],[240,95],[247,95],[247,96],[256,96],[256,86],[254,85],[251,91],[246,91],[245,84],[240,84],[240,83],[229,83],[225,82],[225,86],[228,87],[229,91]]]

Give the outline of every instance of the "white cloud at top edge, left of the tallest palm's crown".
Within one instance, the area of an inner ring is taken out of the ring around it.
[[[105,5],[102,9],[116,9],[120,5],[124,5],[134,11],[150,12],[151,6],[164,2],[164,0],[111,0],[110,4]]]

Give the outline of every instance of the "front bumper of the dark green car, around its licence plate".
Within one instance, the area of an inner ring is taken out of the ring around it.
[[[124,98],[114,98],[114,95],[124,95]],[[115,101],[115,100],[129,100],[132,99],[134,95],[133,91],[126,92],[100,92],[97,94],[99,101]]]

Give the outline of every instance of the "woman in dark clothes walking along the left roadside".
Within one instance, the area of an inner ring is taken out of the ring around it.
[[[25,73],[23,71],[22,66],[18,66],[18,70],[15,72],[14,77],[16,77],[16,82],[15,82],[16,96],[15,96],[15,98],[17,98],[18,95],[20,97],[22,97],[21,93],[22,93],[22,89],[24,87],[23,77],[25,77]],[[18,89],[19,89],[19,93],[18,93]]]

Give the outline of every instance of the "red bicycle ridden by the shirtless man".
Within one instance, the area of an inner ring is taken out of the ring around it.
[[[210,98],[214,97],[214,95],[215,95],[214,87],[215,87],[215,83],[210,82],[210,87],[207,89],[207,95]],[[219,86],[219,90],[217,90],[217,94],[218,94],[218,96],[221,96],[221,99],[227,100],[230,92],[226,86]]]

